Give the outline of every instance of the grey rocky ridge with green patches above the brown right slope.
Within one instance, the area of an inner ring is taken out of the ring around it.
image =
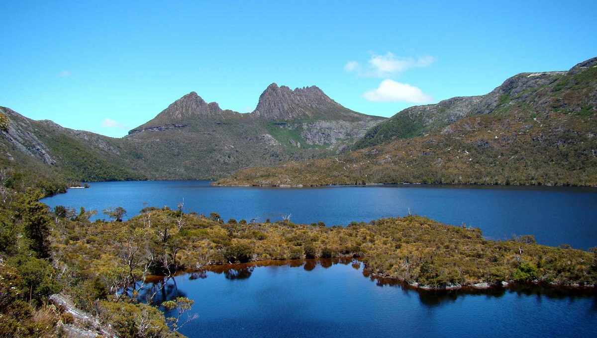
[[[508,113],[521,107],[535,114],[553,110],[594,113],[597,106],[595,66],[597,58],[592,58],[567,72],[521,73],[485,95],[454,97],[438,104],[407,108],[367,131],[353,149],[429,134],[465,117]]]

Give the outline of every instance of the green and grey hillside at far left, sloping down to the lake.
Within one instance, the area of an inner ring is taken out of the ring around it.
[[[10,108],[0,107],[0,114],[7,121],[0,131],[0,162],[6,170],[70,182],[147,178],[143,163],[121,139],[30,120]]]

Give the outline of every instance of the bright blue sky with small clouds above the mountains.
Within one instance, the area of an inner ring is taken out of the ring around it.
[[[122,137],[184,94],[272,82],[392,116],[597,56],[596,1],[0,2],[0,106]]]

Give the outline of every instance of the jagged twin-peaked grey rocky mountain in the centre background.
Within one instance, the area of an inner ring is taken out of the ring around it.
[[[191,92],[125,139],[155,169],[152,177],[211,178],[337,153],[384,119],[347,109],[315,86],[272,83],[252,113],[221,110]]]

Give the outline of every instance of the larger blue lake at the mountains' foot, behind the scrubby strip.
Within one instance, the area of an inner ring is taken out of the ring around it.
[[[597,188],[472,185],[373,185],[359,187],[266,188],[213,187],[209,181],[91,182],[42,201],[51,207],[84,206],[101,210],[122,206],[127,218],[146,206],[263,222],[291,215],[296,223],[347,225],[372,219],[427,216],[451,225],[481,228],[485,237],[501,240],[535,235],[550,246],[597,246]]]

